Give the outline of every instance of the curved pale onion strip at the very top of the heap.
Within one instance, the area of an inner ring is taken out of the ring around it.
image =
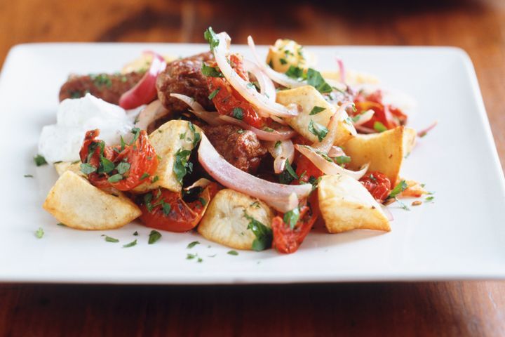
[[[284,105],[272,102],[266,95],[258,93],[256,89],[250,86],[248,81],[242,79],[229,65],[227,54],[229,53],[230,37],[226,32],[217,34],[219,44],[214,48],[214,58],[217,66],[220,68],[229,84],[249,103],[257,107],[260,111],[273,114],[278,117],[294,117],[298,114],[296,105]],[[249,85],[248,85],[249,84]]]

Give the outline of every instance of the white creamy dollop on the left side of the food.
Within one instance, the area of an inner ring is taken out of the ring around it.
[[[89,93],[68,98],[58,107],[56,124],[42,128],[39,154],[49,162],[79,160],[86,131],[100,128],[100,139],[107,145],[119,144],[121,135],[130,134],[135,116]]]

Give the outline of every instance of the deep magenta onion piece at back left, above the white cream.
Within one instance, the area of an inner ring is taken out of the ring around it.
[[[156,98],[156,78],[159,73],[165,70],[166,61],[163,56],[154,52],[150,53],[153,55],[153,60],[149,70],[133,88],[123,93],[119,98],[119,106],[125,110],[140,107],[142,104],[149,104]]]

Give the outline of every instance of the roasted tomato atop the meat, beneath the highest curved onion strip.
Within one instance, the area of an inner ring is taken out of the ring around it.
[[[232,54],[230,56],[230,65],[238,76],[249,81],[249,75],[243,70],[242,60],[238,55]],[[257,113],[256,108],[245,100],[224,77],[207,77],[207,85],[217,112],[241,119],[255,128],[264,126],[264,121]]]

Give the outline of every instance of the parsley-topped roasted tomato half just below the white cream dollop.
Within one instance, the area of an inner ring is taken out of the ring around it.
[[[114,188],[129,191],[138,185],[154,179],[158,168],[158,157],[144,130],[134,128],[133,140],[115,147],[96,140],[100,130],[86,132],[79,157],[81,171],[88,180],[102,190]]]

